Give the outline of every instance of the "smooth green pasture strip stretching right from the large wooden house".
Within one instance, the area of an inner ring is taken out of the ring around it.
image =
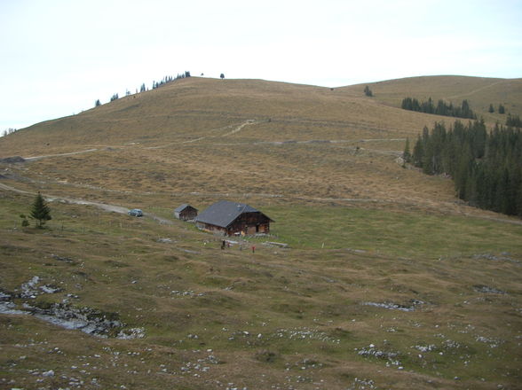
[[[273,234],[292,246],[353,248],[426,259],[493,251],[522,253],[522,226],[356,207],[266,207],[276,215]],[[324,244],[324,246],[323,246]]]

